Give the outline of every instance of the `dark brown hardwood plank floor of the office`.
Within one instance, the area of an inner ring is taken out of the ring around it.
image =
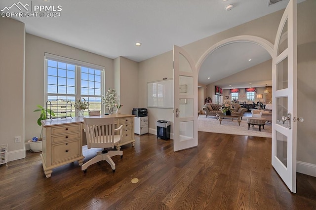
[[[271,166],[270,138],[198,135],[196,148],[179,152],[172,140],[135,135],[135,147],[122,146],[123,159],[113,158],[115,173],[104,161],[84,174],[75,162],[46,178],[40,154],[27,151],[0,166],[0,209],[316,209],[316,178],[297,174],[297,194],[290,193]]]

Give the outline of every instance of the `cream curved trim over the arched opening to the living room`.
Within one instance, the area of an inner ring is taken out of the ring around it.
[[[205,58],[210,53],[212,53],[213,51],[215,51],[216,49],[218,49],[222,46],[225,46],[225,45],[231,44],[231,43],[235,43],[235,42],[250,42],[250,43],[258,44],[258,45],[262,46],[264,49],[266,49],[272,57],[274,45],[270,41],[268,41],[264,38],[258,37],[258,36],[253,36],[253,35],[238,35],[238,36],[233,36],[233,37],[224,39],[220,42],[217,42],[216,44],[214,44],[213,46],[208,48],[208,50],[206,50],[197,61],[197,66],[196,66],[197,72],[199,71]]]

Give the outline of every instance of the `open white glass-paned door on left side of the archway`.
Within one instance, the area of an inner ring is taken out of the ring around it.
[[[184,49],[173,46],[173,150],[197,146],[197,70]]]

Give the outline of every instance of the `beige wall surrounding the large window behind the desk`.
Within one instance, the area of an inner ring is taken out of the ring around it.
[[[36,105],[45,105],[44,99],[44,53],[51,53],[105,67],[105,89],[113,88],[113,59],[84,50],[50,41],[39,36],[26,34],[25,47],[25,141],[40,136],[36,123]]]

